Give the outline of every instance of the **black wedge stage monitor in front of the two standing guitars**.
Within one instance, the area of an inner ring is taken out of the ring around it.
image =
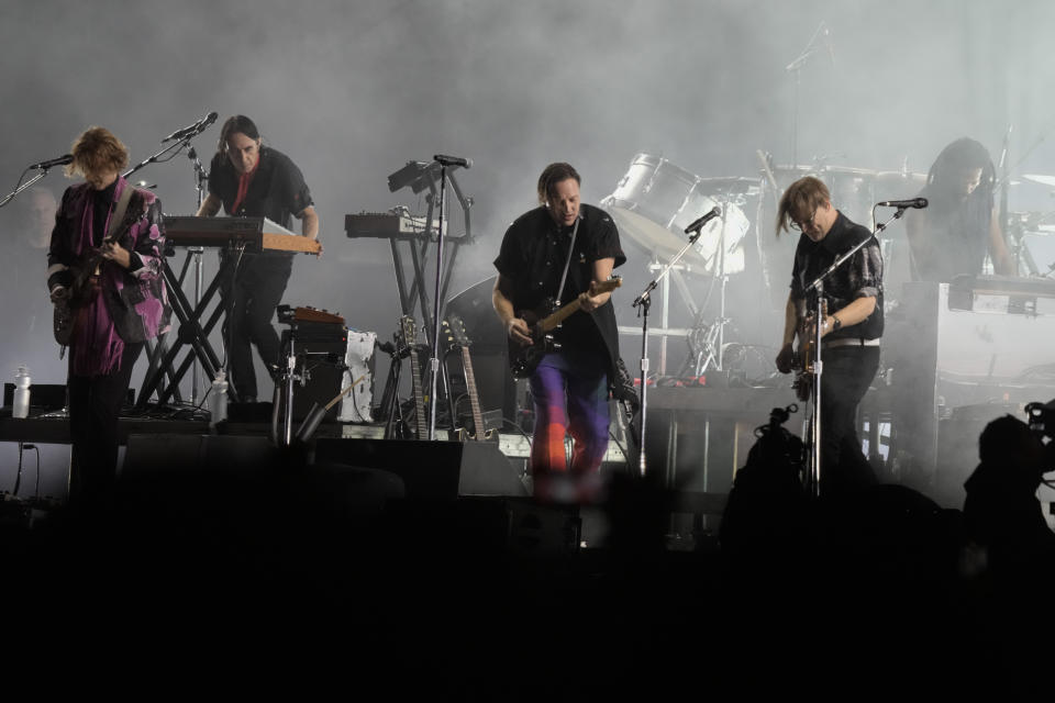
[[[489,442],[320,438],[315,464],[391,471],[403,480],[408,499],[528,495],[509,459]]]

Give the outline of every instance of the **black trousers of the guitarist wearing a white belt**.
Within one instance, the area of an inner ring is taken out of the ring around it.
[[[860,450],[857,405],[879,368],[879,347],[825,348],[821,358],[821,494],[841,495],[876,483]]]

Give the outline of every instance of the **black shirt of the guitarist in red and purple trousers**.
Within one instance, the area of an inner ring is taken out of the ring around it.
[[[608,213],[587,204],[580,207],[579,213],[581,221],[560,295],[562,304],[589,290],[595,261],[611,257],[618,267],[626,260],[619,243],[619,231]],[[540,207],[518,217],[506,231],[495,268],[512,282],[512,303],[518,312],[540,312],[546,299],[557,294],[571,230],[558,226],[549,211]],[[548,311],[542,310],[541,313],[545,315]],[[579,311],[570,315],[556,334],[568,354],[595,347],[599,336],[614,364],[619,357],[619,336],[611,300],[592,313]]]

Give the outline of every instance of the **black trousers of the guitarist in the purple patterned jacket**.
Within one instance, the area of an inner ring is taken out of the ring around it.
[[[69,392],[70,501],[99,503],[113,490],[118,470],[118,416],[144,344],[125,344],[121,368],[109,376],[74,376]],[[74,355],[70,354],[70,364]]]

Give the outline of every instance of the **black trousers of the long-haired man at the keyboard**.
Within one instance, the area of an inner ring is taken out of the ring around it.
[[[231,387],[240,401],[253,401],[257,395],[251,345],[256,345],[265,367],[271,369],[278,364],[280,347],[271,317],[282,300],[292,270],[292,257],[248,254],[238,266],[233,290],[230,279],[221,289],[227,310],[223,334],[230,344]]]

